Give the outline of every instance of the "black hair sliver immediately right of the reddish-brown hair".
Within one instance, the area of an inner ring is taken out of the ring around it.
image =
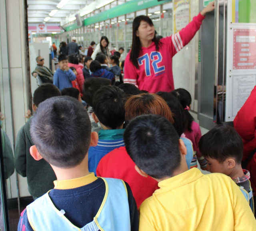
[[[178,135],[181,136],[188,127],[188,120],[185,114],[185,110],[181,106],[178,99],[169,92],[158,92],[157,94],[165,100],[170,110],[172,111],[172,116],[174,119],[173,126],[178,132]]]

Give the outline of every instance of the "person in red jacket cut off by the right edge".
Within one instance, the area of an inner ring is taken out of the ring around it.
[[[256,86],[234,119],[234,128],[242,137],[244,155],[242,161],[248,161],[246,169],[251,173],[251,185],[256,192],[256,154],[250,156],[256,149]]]

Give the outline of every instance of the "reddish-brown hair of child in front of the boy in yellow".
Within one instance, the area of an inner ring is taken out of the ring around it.
[[[163,98],[157,94],[143,93],[131,96],[125,103],[125,121],[136,116],[154,114],[160,115],[174,123],[172,112]]]

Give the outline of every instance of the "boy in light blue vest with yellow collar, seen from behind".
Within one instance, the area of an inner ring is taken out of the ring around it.
[[[54,97],[40,104],[30,132],[31,155],[50,163],[57,181],[22,212],[18,231],[138,230],[129,185],[88,171],[88,148],[97,144],[98,135],[91,133],[88,114],[76,99]]]

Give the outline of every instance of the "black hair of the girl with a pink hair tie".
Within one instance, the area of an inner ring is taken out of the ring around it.
[[[191,125],[194,121],[194,118],[191,116],[188,110],[185,110],[185,108],[187,108],[187,106],[189,107],[192,102],[190,93],[183,88],[178,88],[176,90],[173,90],[171,94],[173,94],[180,101],[180,104],[182,105],[188,120],[188,131],[192,131]]]

